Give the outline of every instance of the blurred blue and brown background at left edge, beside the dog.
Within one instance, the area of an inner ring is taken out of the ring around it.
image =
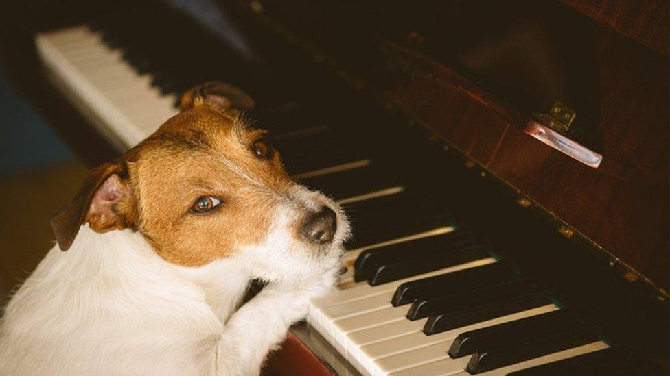
[[[0,71],[2,301],[54,244],[49,219],[76,192],[86,170]]]

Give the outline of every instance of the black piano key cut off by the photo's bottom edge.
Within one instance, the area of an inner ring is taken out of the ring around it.
[[[509,373],[509,376],[610,375],[617,369],[635,366],[635,360],[612,347]],[[630,375],[635,375],[631,373]]]

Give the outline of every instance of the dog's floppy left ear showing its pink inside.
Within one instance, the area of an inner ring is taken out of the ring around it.
[[[86,222],[97,232],[133,227],[129,199],[126,164],[108,163],[93,168],[72,201],[51,218],[60,249],[70,248]]]

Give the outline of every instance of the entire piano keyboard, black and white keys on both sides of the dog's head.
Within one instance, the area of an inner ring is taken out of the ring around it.
[[[60,87],[128,149],[176,113],[178,90],[199,81],[161,86],[138,63],[146,60],[128,59],[124,39],[111,38],[118,30],[97,28],[39,34],[36,47]],[[332,195],[351,216],[347,271],[339,290],[312,301],[308,323],[356,372],[636,374],[634,360],[601,340],[597,327],[459,225],[448,203],[434,198],[430,179],[406,164],[414,151],[389,153],[403,144],[386,144],[404,140],[389,136],[380,145],[365,124],[346,119],[356,129],[351,138],[336,120],[310,123],[294,107],[258,112],[259,124],[274,132],[289,173]]]

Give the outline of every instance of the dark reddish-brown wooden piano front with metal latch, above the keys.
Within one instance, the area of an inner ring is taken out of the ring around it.
[[[667,4],[238,3],[627,278],[668,287]]]

